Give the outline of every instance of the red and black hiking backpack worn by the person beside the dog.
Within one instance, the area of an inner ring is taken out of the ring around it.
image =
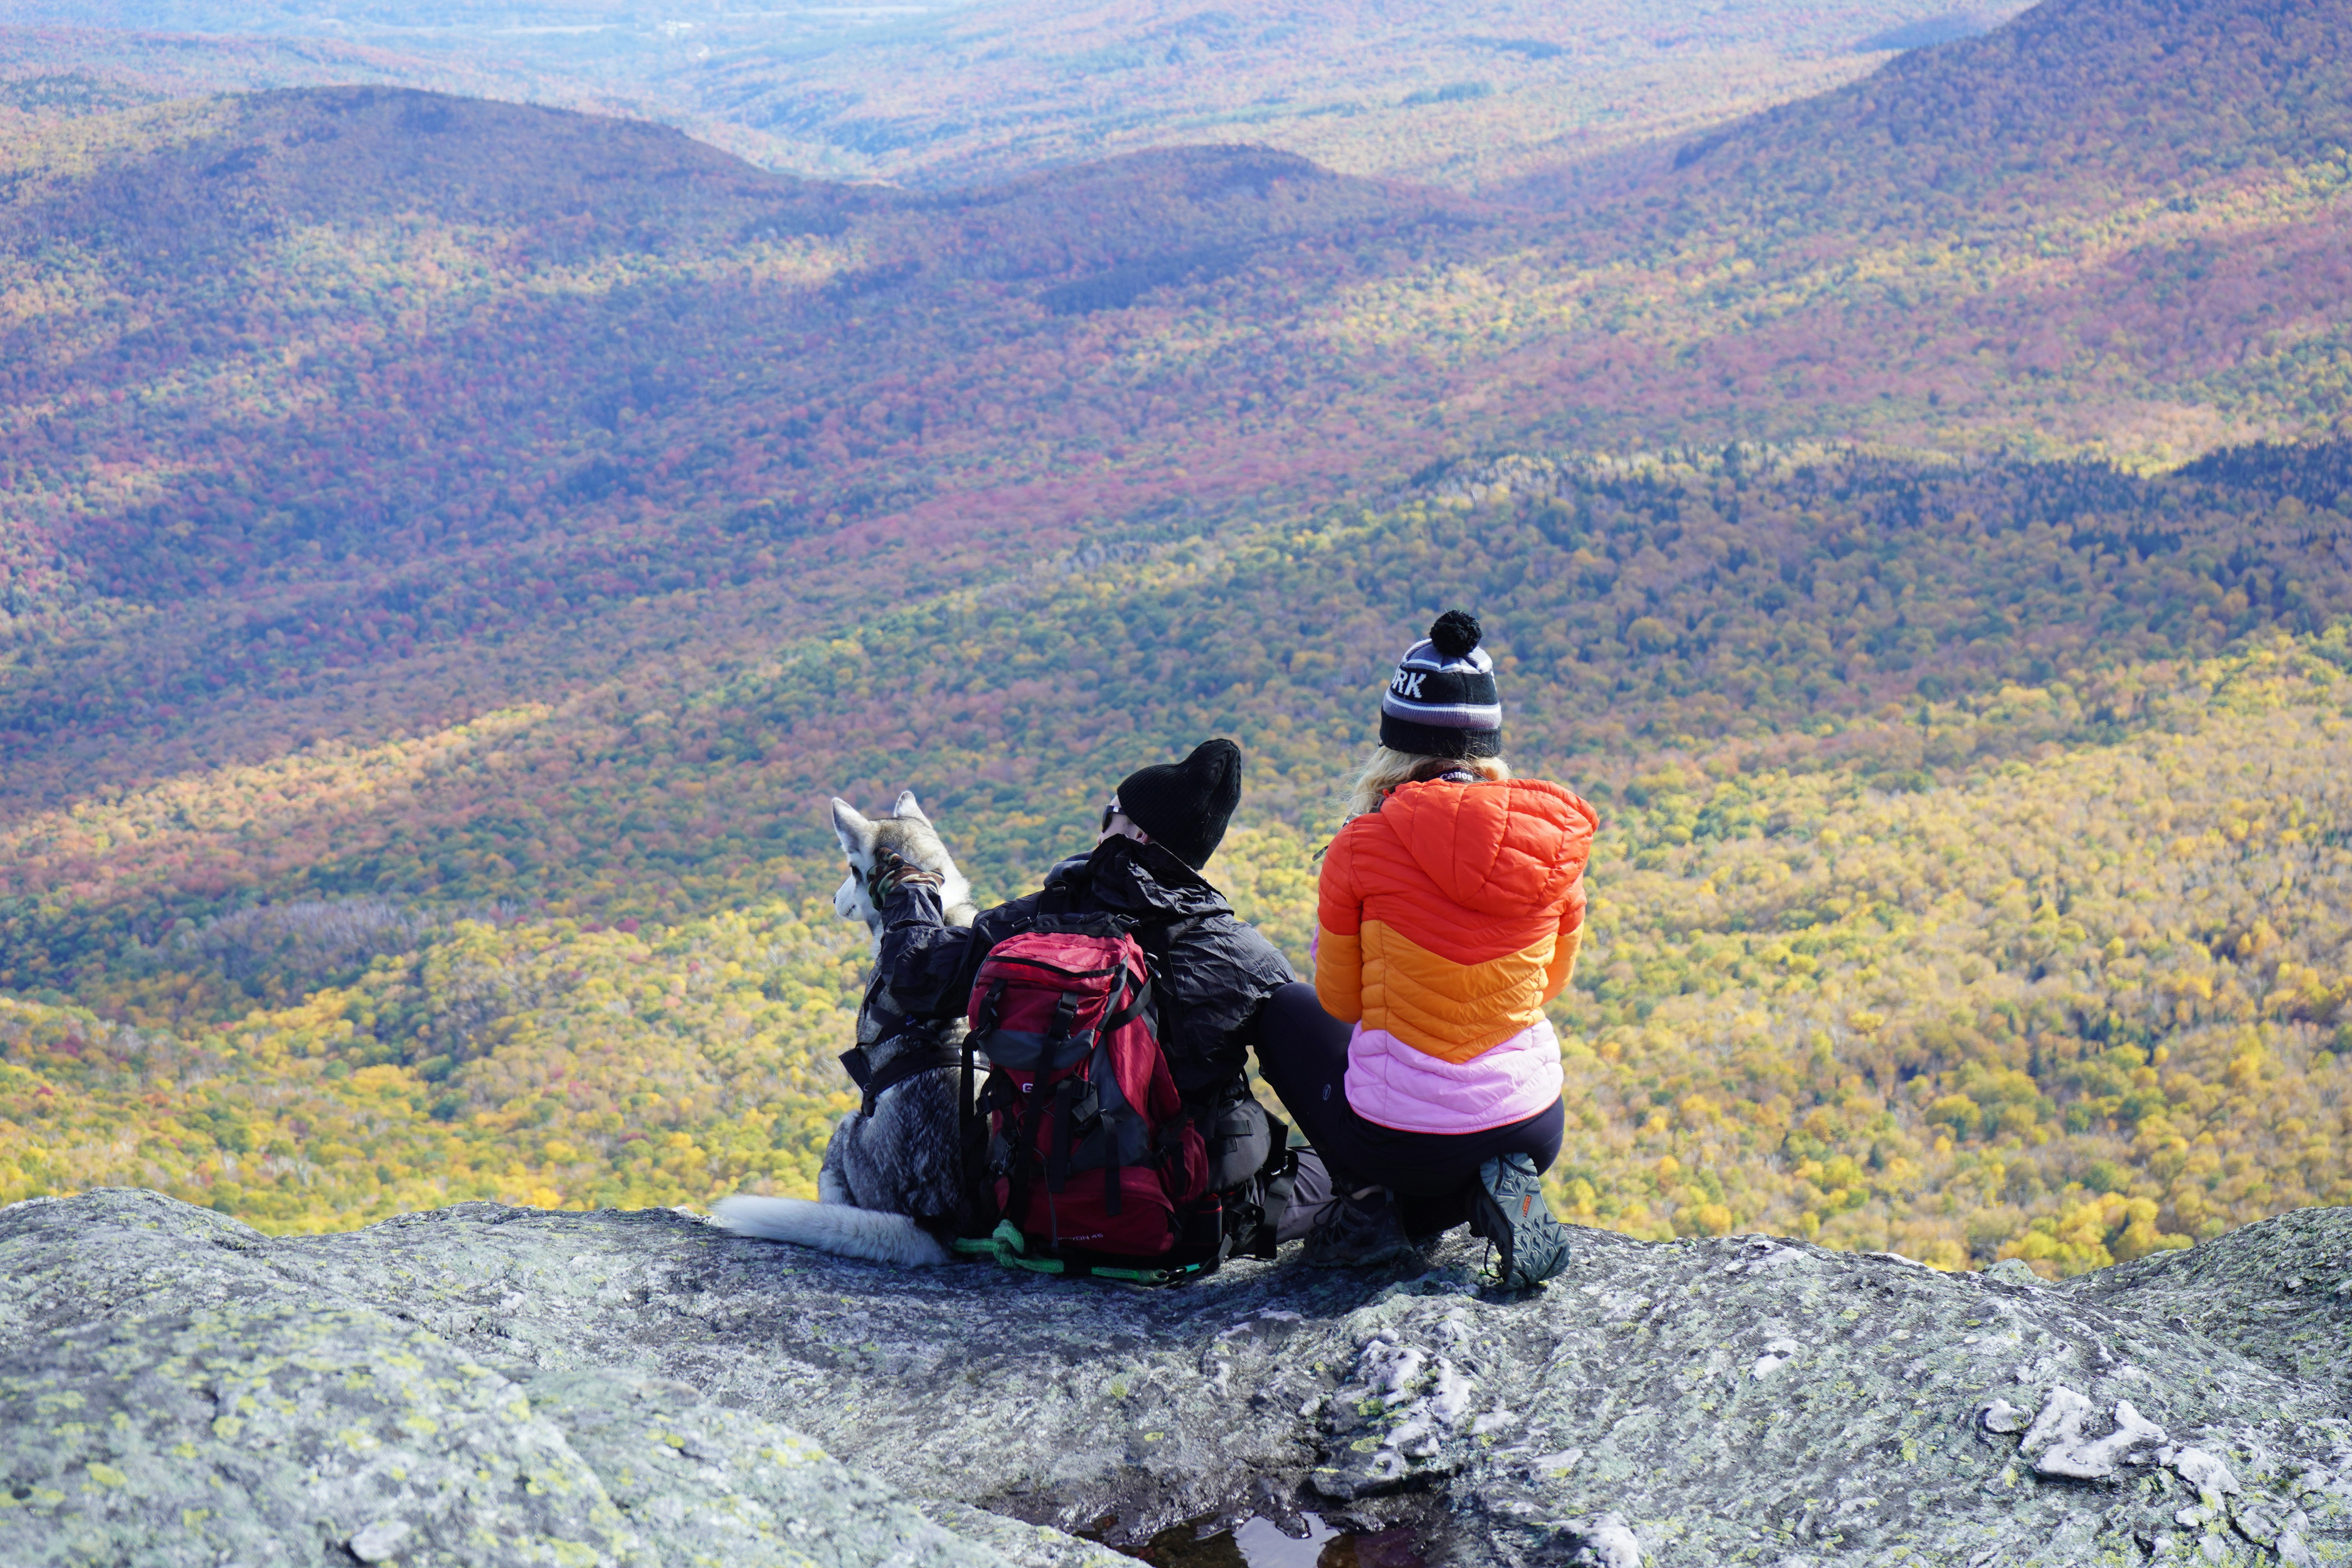
[[[1150,1284],[1223,1260],[1223,1206],[1150,992],[1143,947],[1115,922],[1028,931],[981,961],[964,1105],[971,1229],[988,1234],[957,1251]],[[988,1058],[976,1103],[974,1053]]]

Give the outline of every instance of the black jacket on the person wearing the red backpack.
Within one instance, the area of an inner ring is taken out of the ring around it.
[[[931,889],[898,889],[882,907],[875,999],[908,1018],[962,1013],[981,959],[1007,936],[1033,929],[1040,905],[1136,922],[1136,943],[1152,964],[1160,1044],[1188,1105],[1209,1105],[1242,1081],[1258,1009],[1296,976],[1200,872],[1164,846],[1129,837],[1063,860],[1042,891],[983,910],[969,929],[941,924]]]

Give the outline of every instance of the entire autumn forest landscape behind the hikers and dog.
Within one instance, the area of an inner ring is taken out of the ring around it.
[[[809,1197],[830,795],[1009,898],[1232,736],[1305,971],[1463,604],[1604,818],[1562,1215],[2060,1276],[2352,1204],[2352,12],[1390,9],[997,96],[1018,2],[0,28],[0,1201]]]

